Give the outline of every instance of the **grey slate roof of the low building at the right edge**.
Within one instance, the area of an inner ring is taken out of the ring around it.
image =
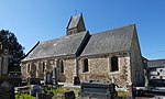
[[[165,66],[165,59],[154,59],[147,62],[148,67],[164,67]]]

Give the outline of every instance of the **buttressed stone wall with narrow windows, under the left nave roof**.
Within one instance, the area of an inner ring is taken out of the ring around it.
[[[64,73],[61,73],[59,59],[63,59]],[[43,70],[43,63],[45,63],[45,69]],[[30,72],[28,73],[28,66],[30,65]],[[53,73],[53,67],[57,68],[57,80],[63,82],[73,82],[73,76],[75,72],[75,58],[45,58],[37,61],[23,62],[21,64],[22,78],[28,77],[44,79],[44,73]]]

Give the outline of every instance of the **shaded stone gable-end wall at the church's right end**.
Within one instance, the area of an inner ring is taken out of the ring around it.
[[[139,46],[138,35],[133,34],[133,41],[131,46],[131,79],[134,86],[144,85],[144,72],[142,65],[142,55]]]

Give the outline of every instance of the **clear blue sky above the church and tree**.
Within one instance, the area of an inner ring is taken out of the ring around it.
[[[37,41],[65,36],[78,13],[90,34],[136,24],[142,55],[165,58],[165,0],[0,0],[0,30],[14,33],[28,53]]]

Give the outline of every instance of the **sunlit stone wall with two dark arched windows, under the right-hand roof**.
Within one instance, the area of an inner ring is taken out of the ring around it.
[[[131,74],[130,74],[130,56],[127,55],[118,55],[118,64],[119,64],[119,72],[110,72],[111,67],[111,58],[112,55],[106,56],[94,56],[94,57],[82,57],[80,58],[80,80],[81,81],[89,81],[89,80],[99,80],[99,81],[114,81],[119,86],[123,87],[129,85],[131,81]],[[89,72],[82,73],[82,61],[88,58],[88,66]]]

